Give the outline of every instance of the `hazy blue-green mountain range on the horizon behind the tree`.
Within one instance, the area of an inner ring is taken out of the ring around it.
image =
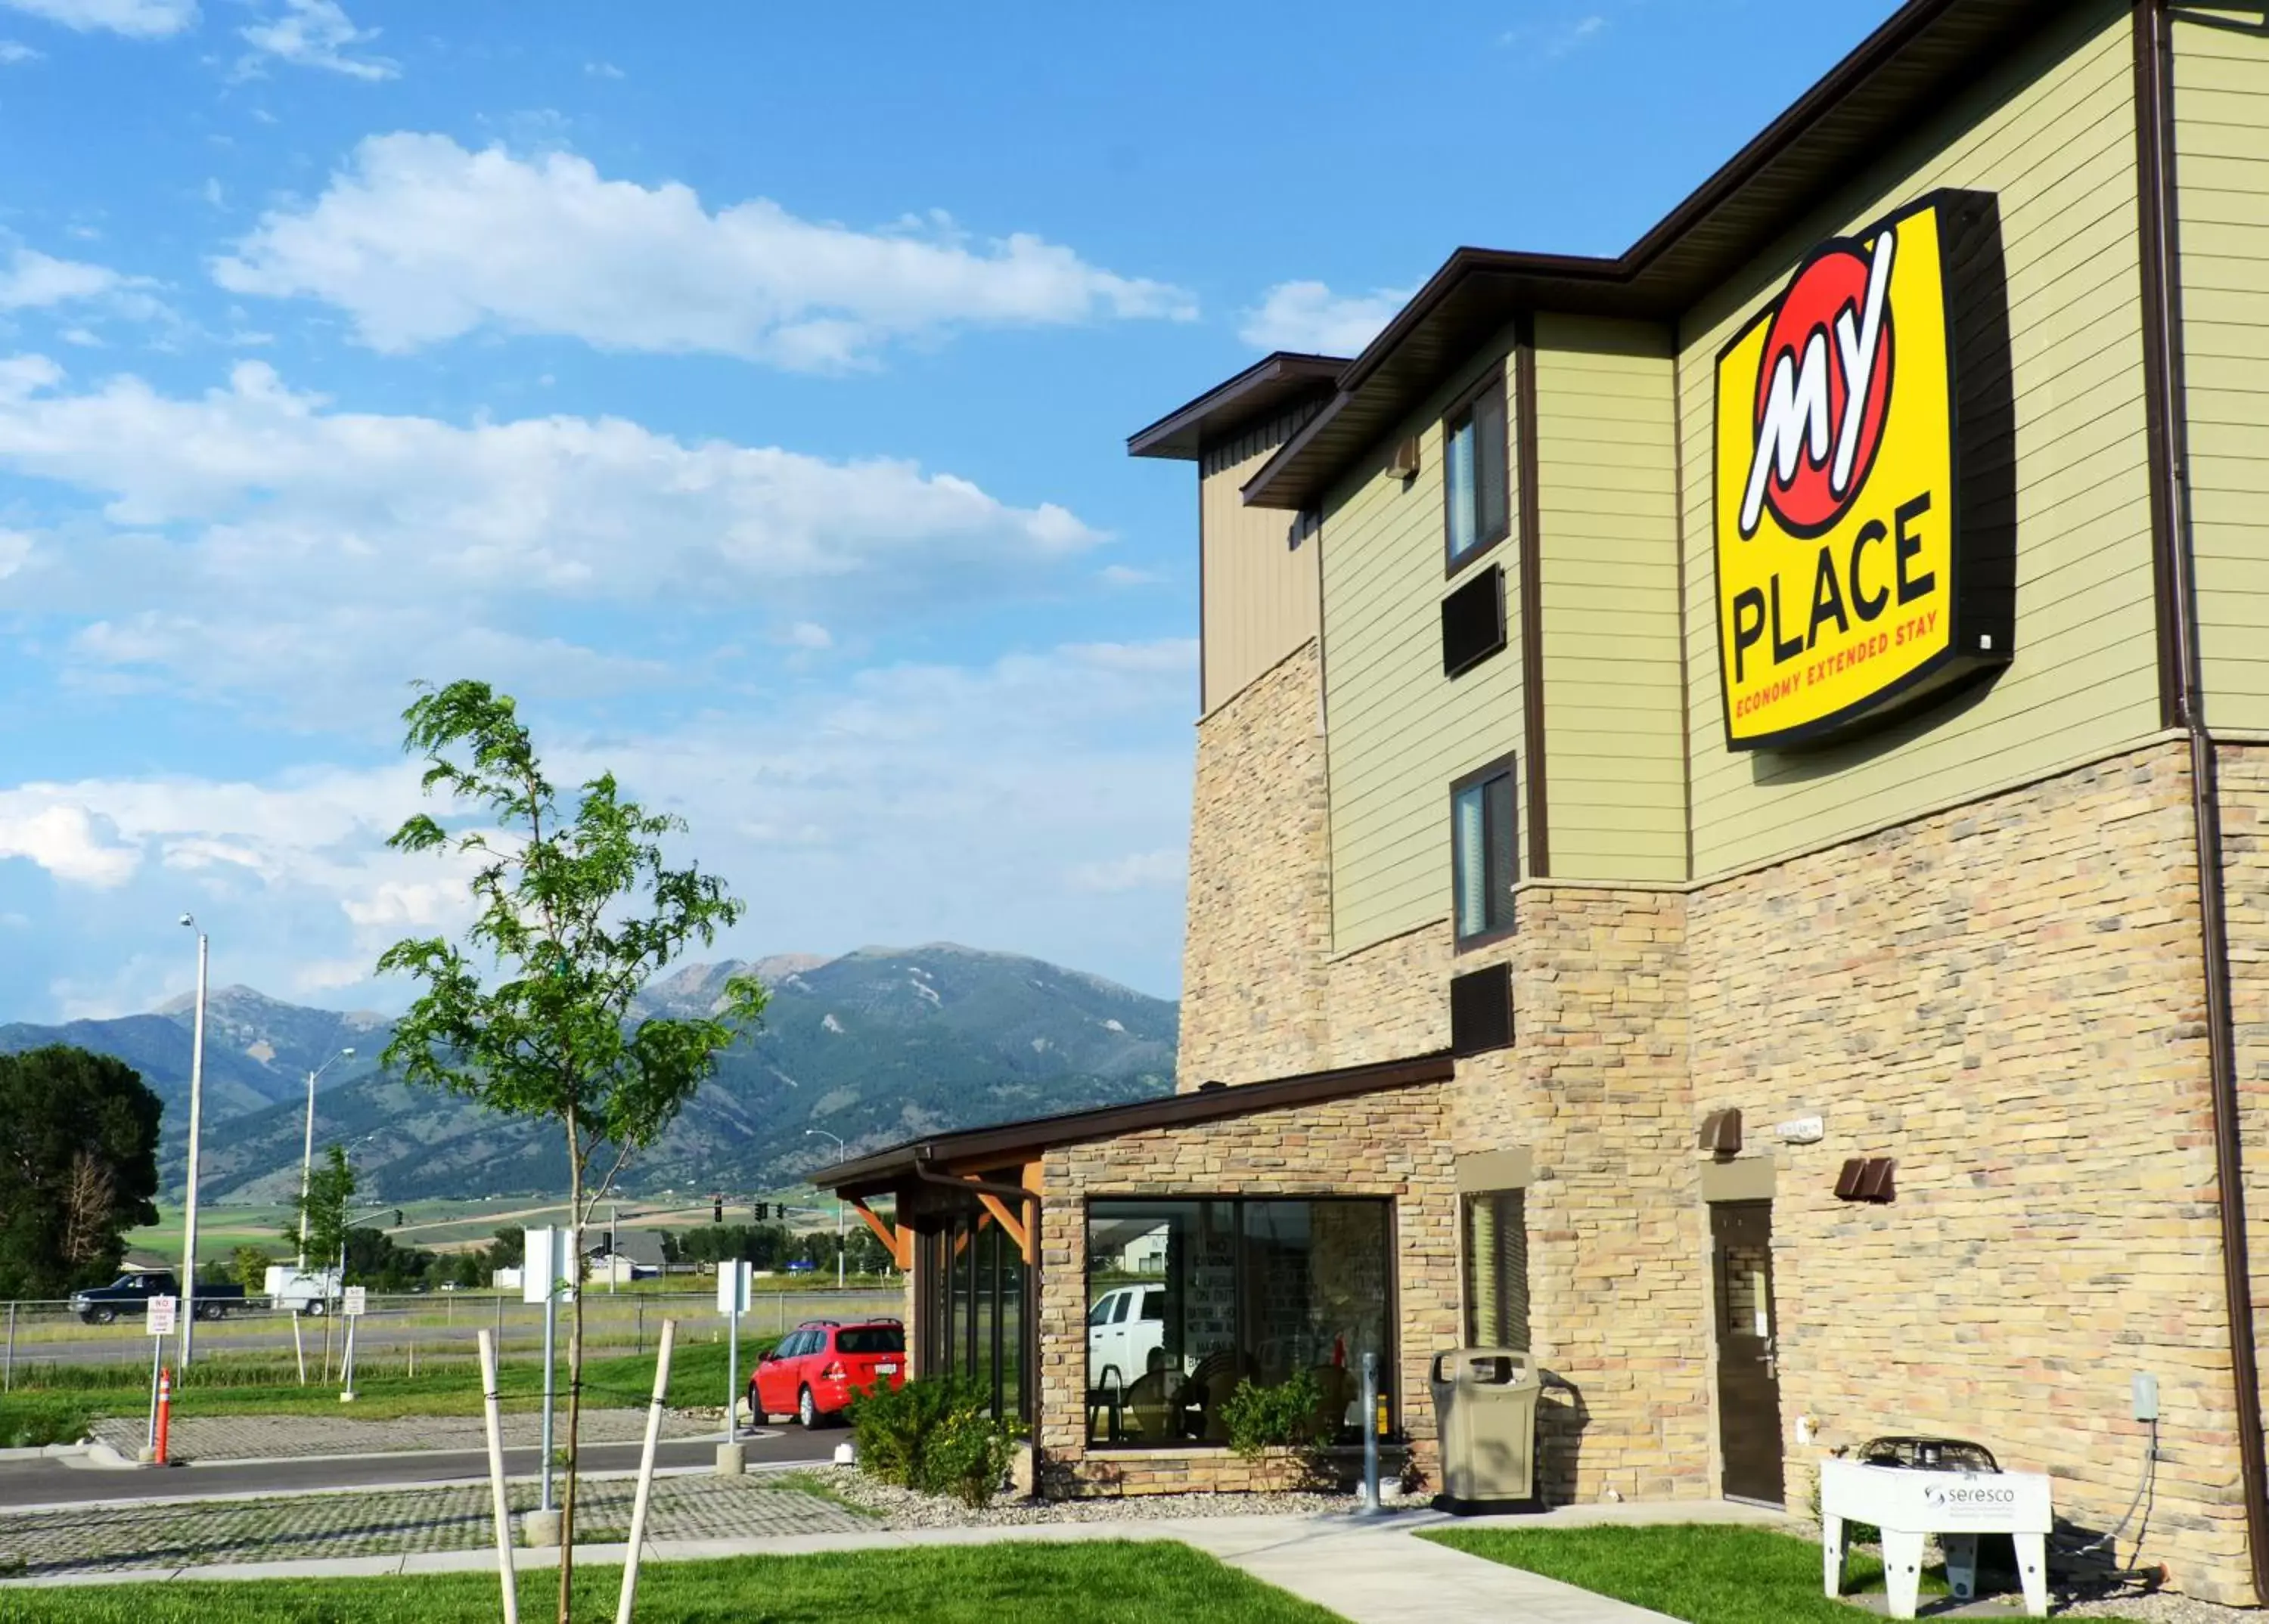
[[[631,1193],[760,1191],[842,1152],[982,1123],[1173,1091],[1178,1005],[1041,959],[951,944],[692,964],[651,984],[644,1014],[706,1014],[728,975],[771,991],[762,1030],[735,1043],[669,1132],[631,1159]],[[116,1055],[166,1105],[159,1161],[184,1177],[188,998],[150,1014],[0,1025],[0,1052],[77,1043]],[[315,1143],[347,1145],[377,1200],[556,1193],[560,1130],[497,1116],[379,1066],[393,1021],[225,987],[206,998],[206,1200],[288,1200],[300,1184],[306,1073]],[[352,1048],[352,1059],[334,1057]],[[218,1130],[218,1132],[216,1132]],[[810,1132],[808,1132],[810,1130]]]

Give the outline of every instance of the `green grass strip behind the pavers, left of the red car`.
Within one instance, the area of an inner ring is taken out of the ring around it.
[[[747,1372],[774,1336],[744,1336],[740,1361]],[[556,1386],[565,1406],[567,1350],[560,1347]],[[313,1361],[309,1361],[313,1365]],[[672,1409],[724,1404],[726,1347],[722,1343],[678,1343],[669,1359]],[[98,1415],[145,1415],[150,1377],[127,1365],[45,1365],[43,1384],[20,1384],[0,1397],[0,1447],[34,1443],[73,1443]],[[742,1375],[747,1384],[747,1375]],[[365,1365],[354,1379],[354,1404],[338,1402],[338,1379],[300,1386],[288,1356],[231,1359],[206,1356],[191,1381],[175,1390],[175,1418],[184,1415],[359,1415],[393,1420],[397,1415],[476,1415],[481,1411],[481,1375],[472,1361],[427,1365],[411,1379],[402,1363]],[[497,1370],[497,1393],[508,1411],[531,1411],[542,1404],[545,1372],[540,1359],[520,1359]],[[653,1354],[613,1354],[583,1365],[583,1402],[592,1409],[644,1409],[653,1399]]]

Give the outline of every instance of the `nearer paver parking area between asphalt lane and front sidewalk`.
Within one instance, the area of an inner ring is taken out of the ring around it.
[[[631,1524],[633,1490],[635,1483],[629,1479],[585,1479],[576,1492],[579,1533],[592,1542],[619,1542]],[[531,1511],[538,1504],[535,1486],[515,1483],[511,1502],[515,1513]],[[660,1477],[653,1481],[649,1511],[656,1540],[860,1533],[871,1526],[871,1520],[817,1495],[785,1488],[774,1477]],[[29,1579],[211,1563],[479,1551],[492,1542],[495,1522],[486,1483],[0,1513],[0,1551],[23,1556],[23,1572]],[[0,1588],[5,1583],[0,1581]]]

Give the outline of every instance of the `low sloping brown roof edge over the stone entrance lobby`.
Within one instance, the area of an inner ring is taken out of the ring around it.
[[[1275,1077],[1271,1082],[1205,1086],[1193,1093],[1169,1093],[1162,1100],[1137,1100],[1134,1105],[1100,1105],[1087,1111],[1030,1116],[1021,1123],[1001,1123],[996,1127],[964,1127],[958,1134],[908,1139],[903,1145],[892,1145],[889,1150],[837,1161],[815,1173],[812,1184],[830,1189],[837,1195],[876,1195],[908,1179],[917,1159],[962,1168],[1001,1166],[1026,1161],[1035,1152],[1055,1145],[1116,1139],[1144,1127],[1187,1127],[1228,1116],[1282,1111],[1293,1105],[1346,1100],[1357,1093],[1407,1089],[1418,1082],[1448,1082],[1452,1073],[1454,1061],[1448,1050],[1441,1050],[1411,1059],[1377,1061],[1373,1066],[1309,1071],[1298,1077]]]

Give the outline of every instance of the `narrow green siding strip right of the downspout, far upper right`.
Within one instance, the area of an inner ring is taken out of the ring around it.
[[[2190,531],[2205,717],[2217,728],[2269,728],[2269,39],[2260,25],[2258,5],[2185,7],[2174,25]]]

